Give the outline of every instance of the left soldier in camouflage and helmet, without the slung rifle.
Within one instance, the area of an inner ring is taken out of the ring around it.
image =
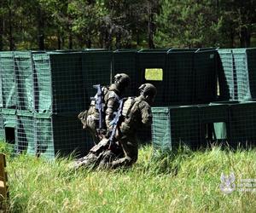
[[[125,73],[119,73],[114,76],[114,83],[109,87],[102,87],[102,101],[104,109],[104,128],[106,131],[99,132],[99,112],[96,110],[96,101],[91,101],[88,111],[79,113],[79,119],[84,125],[83,128],[90,132],[95,144],[101,141],[102,136],[106,134],[113,120],[113,112],[119,107],[119,98],[125,92],[125,88],[130,84],[130,77]]]

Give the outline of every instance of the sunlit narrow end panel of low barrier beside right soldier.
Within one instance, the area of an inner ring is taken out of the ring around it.
[[[172,149],[171,122],[168,107],[152,107],[152,114],[153,147],[160,148],[161,150]]]

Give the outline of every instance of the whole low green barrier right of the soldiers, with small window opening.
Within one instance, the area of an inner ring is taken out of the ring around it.
[[[153,145],[172,149],[180,143],[191,148],[209,142],[230,147],[255,145],[256,102],[227,101],[210,105],[153,107]]]

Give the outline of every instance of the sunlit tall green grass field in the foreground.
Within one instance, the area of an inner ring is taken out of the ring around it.
[[[222,172],[256,178],[256,150],[171,155],[142,147],[137,164],[122,170],[68,170],[71,159],[47,161],[8,154],[9,208],[12,212],[255,212],[256,192],[224,194]]]

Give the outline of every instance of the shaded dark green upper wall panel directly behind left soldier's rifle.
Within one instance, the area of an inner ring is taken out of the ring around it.
[[[85,109],[90,105],[90,97],[96,94],[94,84],[109,85],[111,77],[112,52],[87,51],[82,56]],[[80,109],[80,110],[81,110]]]

